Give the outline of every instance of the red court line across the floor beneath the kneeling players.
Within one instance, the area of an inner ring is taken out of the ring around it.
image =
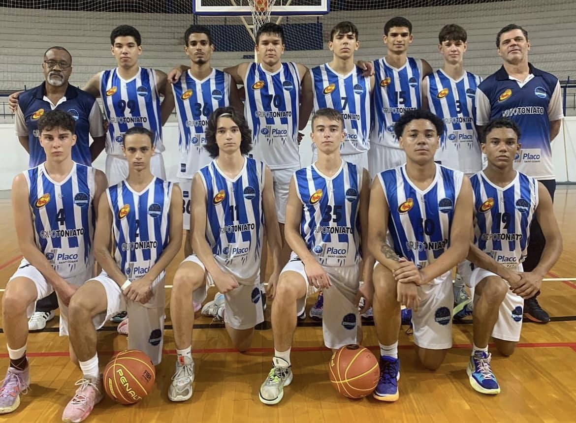
[[[491,344],[492,346],[492,344]],[[370,345],[366,348],[377,350],[379,347],[378,345]],[[472,344],[454,344],[452,348],[456,349],[471,349]],[[516,345],[516,348],[571,348],[576,352],[576,342],[521,342],[520,344]],[[414,349],[414,345],[399,345],[398,349]],[[328,348],[324,346],[295,346],[291,349],[294,352],[319,352],[319,351],[327,351]],[[98,352],[99,355],[103,356],[111,356],[118,351],[100,351]],[[239,352],[237,349],[234,348],[200,348],[192,350],[194,354],[207,354],[207,353],[234,353]],[[248,350],[251,353],[273,353],[274,348],[251,348]],[[173,356],[176,355],[175,349],[165,349],[162,350],[163,355]],[[52,351],[52,352],[27,352],[26,356],[28,357],[67,357],[67,351]],[[0,358],[6,359],[8,355],[6,353],[0,353]]]

